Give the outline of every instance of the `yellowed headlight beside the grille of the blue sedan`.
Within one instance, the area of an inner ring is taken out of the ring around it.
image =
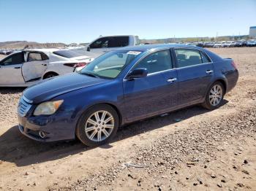
[[[63,100],[43,102],[34,110],[34,115],[54,114],[62,103]]]

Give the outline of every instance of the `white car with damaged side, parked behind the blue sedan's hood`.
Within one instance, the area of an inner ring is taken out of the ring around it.
[[[21,50],[0,61],[0,87],[28,87],[42,79],[79,71],[93,60],[72,50]]]

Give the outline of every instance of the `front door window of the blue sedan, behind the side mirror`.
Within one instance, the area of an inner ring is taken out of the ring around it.
[[[147,69],[148,74],[172,69],[170,50],[162,50],[146,56],[146,58],[143,58],[143,60],[136,64],[134,67],[134,69],[140,68]]]

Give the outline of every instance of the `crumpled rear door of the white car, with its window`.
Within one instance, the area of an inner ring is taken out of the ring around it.
[[[26,54],[26,62],[22,66],[25,81],[40,79],[48,67],[48,56],[43,52],[26,52]]]

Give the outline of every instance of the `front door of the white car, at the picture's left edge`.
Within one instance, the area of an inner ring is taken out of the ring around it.
[[[5,58],[0,63],[0,85],[25,84],[21,67],[24,63],[24,52],[18,52]]]

